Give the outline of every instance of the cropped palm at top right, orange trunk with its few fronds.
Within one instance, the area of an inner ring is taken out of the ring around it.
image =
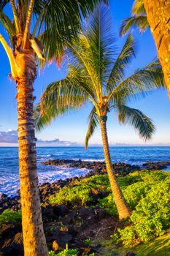
[[[132,16],[123,20],[120,35],[138,27],[145,31],[149,26],[155,39],[158,58],[161,61],[166,86],[170,91],[170,1],[165,0],[135,0],[131,10]],[[170,94],[169,94],[170,97]]]

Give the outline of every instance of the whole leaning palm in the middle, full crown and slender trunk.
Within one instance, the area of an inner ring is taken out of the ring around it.
[[[88,25],[87,25],[88,24]],[[79,37],[69,48],[69,70],[66,78],[50,83],[36,108],[36,127],[42,129],[56,116],[90,102],[85,148],[96,127],[101,128],[104,157],[109,182],[120,219],[131,212],[117,184],[109,153],[107,138],[107,114],[114,110],[120,123],[129,123],[139,130],[139,135],[149,139],[154,131],[150,118],[140,110],[128,107],[127,101],[139,94],[163,86],[163,74],[159,61],[155,60],[134,74],[125,77],[126,68],[135,56],[134,39],[131,35],[117,55],[115,38],[111,29],[109,10],[101,4],[82,25]]]

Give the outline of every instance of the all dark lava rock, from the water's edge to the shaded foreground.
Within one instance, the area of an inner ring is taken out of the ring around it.
[[[59,251],[69,244],[69,248],[78,248],[80,255],[95,252],[98,255],[100,244],[94,243],[93,246],[85,243],[86,238],[93,241],[107,239],[113,230],[123,225],[118,222],[117,217],[110,216],[106,210],[97,206],[98,199],[106,197],[106,193],[93,189],[91,197],[93,201],[88,207],[72,208],[64,204],[51,205],[48,203],[48,197],[55,194],[62,187],[72,186],[74,182],[80,181],[94,175],[106,174],[104,162],[82,162],[55,159],[42,163],[43,165],[57,165],[66,167],[87,168],[90,171],[85,176],[66,178],[50,183],[39,185],[39,192],[42,202],[42,218],[45,228],[45,236],[50,249]],[[170,165],[170,162],[147,162],[142,166],[129,165],[123,162],[113,163],[113,170],[117,176],[126,176],[135,170],[160,170]],[[2,194],[0,197],[0,214],[5,209],[13,211],[20,210],[20,192],[18,196],[7,197]],[[0,255],[1,256],[22,256],[23,255],[23,236],[21,223],[7,223],[1,226],[0,230]],[[114,254],[113,254],[114,255]],[[127,255],[135,255],[127,252]]]

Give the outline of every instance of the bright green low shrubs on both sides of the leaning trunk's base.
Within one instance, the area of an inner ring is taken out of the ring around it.
[[[170,228],[170,173],[143,170],[117,180],[132,214],[124,222],[124,228],[112,235],[113,241],[129,248],[166,234]],[[105,193],[107,196],[99,198],[96,206],[106,209],[109,214],[117,214],[107,175],[74,181],[49,200],[52,204],[87,206],[93,201],[93,193]]]

